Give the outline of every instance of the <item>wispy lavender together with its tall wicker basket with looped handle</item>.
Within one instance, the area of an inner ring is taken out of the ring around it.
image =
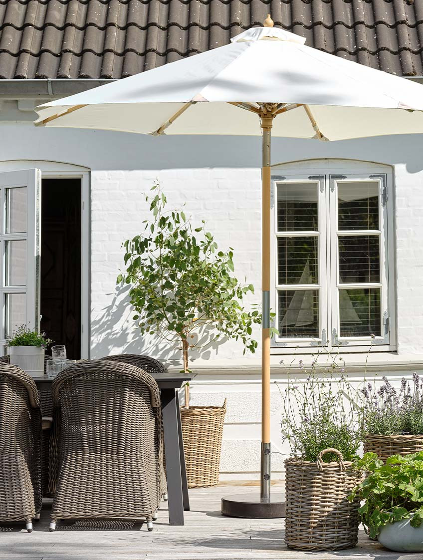
[[[285,460],[285,542],[297,550],[352,548],[359,500],[348,496],[362,478],[353,460],[363,437],[363,400],[347,380],[344,362],[340,367],[325,349],[309,371],[302,361],[298,368],[294,378],[286,370],[283,394],[282,433],[291,449]]]

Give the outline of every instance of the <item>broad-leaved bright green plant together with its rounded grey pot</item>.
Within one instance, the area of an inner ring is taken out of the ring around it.
[[[364,502],[359,514],[370,538],[396,552],[423,552],[423,451],[393,455],[386,463],[366,453],[355,468],[367,477],[350,500]]]

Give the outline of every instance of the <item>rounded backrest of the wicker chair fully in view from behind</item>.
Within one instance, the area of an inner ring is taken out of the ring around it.
[[[138,450],[146,441],[157,449],[162,433],[159,403],[156,381],[138,367],[117,361],[79,362],[53,381],[59,437],[68,450],[123,453]]]

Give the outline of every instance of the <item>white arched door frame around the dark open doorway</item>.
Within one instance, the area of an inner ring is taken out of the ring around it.
[[[90,170],[73,164],[39,160],[0,162],[0,172],[37,168],[42,179],[81,179],[81,358],[90,358]],[[3,311],[4,312],[4,311]],[[48,334],[48,333],[47,333]],[[1,341],[0,341],[1,343]]]

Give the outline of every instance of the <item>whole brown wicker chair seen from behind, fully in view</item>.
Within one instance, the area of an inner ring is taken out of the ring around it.
[[[50,531],[59,519],[146,519],[151,531],[162,492],[156,381],[135,366],[80,362],[53,381],[53,405]]]

